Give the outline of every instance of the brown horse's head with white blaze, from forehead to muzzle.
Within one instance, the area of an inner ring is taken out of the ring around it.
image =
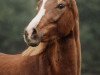
[[[39,0],[38,13],[25,29],[29,46],[67,36],[75,26],[75,0]]]

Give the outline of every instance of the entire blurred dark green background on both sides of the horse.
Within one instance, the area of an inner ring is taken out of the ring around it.
[[[36,0],[0,0],[0,52],[27,48],[24,28],[36,14]],[[100,75],[100,0],[77,0],[80,13],[82,75]]]

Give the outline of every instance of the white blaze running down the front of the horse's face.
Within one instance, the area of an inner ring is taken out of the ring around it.
[[[46,2],[47,2],[47,0],[43,0],[40,11],[36,15],[36,17],[33,18],[33,20],[27,26],[26,30],[27,30],[28,33],[32,33],[32,29],[37,27],[41,18],[45,15],[46,9],[44,7],[45,7]]]

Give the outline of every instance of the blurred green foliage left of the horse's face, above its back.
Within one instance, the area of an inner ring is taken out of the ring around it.
[[[24,49],[23,32],[34,16],[36,1],[0,0],[0,51],[15,53]]]

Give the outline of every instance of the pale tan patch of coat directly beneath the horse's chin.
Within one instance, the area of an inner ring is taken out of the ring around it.
[[[35,56],[41,54],[46,48],[47,43],[40,43],[36,47],[28,47],[23,53],[22,56]]]

